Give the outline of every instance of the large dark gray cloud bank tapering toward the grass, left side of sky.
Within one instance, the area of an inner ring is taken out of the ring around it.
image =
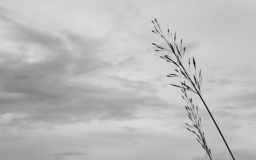
[[[4,12],[0,12],[0,20],[11,25],[3,29],[16,49],[0,49],[0,111],[12,115],[5,125],[138,118],[141,107],[167,107],[167,102],[150,95],[156,91],[147,83],[110,77],[133,91],[94,83],[103,81],[104,71],[111,68],[98,57],[102,42],[67,31],[32,28]],[[38,60],[28,61],[30,52]],[[149,94],[139,94],[140,89]]]

